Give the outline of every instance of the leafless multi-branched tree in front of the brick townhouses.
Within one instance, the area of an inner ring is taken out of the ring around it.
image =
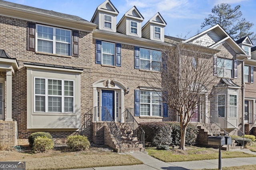
[[[208,48],[186,43],[162,49],[161,80],[155,77],[155,82],[162,89],[163,101],[174,111],[173,114],[179,116],[179,149],[186,149],[186,128],[199,100],[207,100],[214,95],[213,86],[217,82],[217,76],[213,76],[214,53]]]

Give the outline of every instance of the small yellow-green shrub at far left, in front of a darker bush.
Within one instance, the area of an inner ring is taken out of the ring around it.
[[[54,143],[52,139],[49,139],[46,136],[38,136],[33,143],[33,151],[36,152],[45,152],[54,148]]]

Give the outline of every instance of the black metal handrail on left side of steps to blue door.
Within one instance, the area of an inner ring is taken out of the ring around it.
[[[118,146],[119,146],[119,152],[121,152],[121,132],[116,125],[116,122],[114,121],[113,117],[110,115],[108,109],[106,107],[103,107],[105,112],[105,122],[107,123],[111,134],[114,136]]]

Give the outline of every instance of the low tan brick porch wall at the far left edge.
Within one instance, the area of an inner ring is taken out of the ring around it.
[[[0,121],[0,145],[9,147],[18,144],[16,125],[16,121]]]

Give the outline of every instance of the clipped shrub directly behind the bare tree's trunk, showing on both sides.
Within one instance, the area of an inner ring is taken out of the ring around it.
[[[172,128],[172,145],[180,145],[180,123],[179,122],[168,122]],[[186,129],[186,145],[194,145],[196,143],[198,135],[198,129],[195,125],[188,124]]]

